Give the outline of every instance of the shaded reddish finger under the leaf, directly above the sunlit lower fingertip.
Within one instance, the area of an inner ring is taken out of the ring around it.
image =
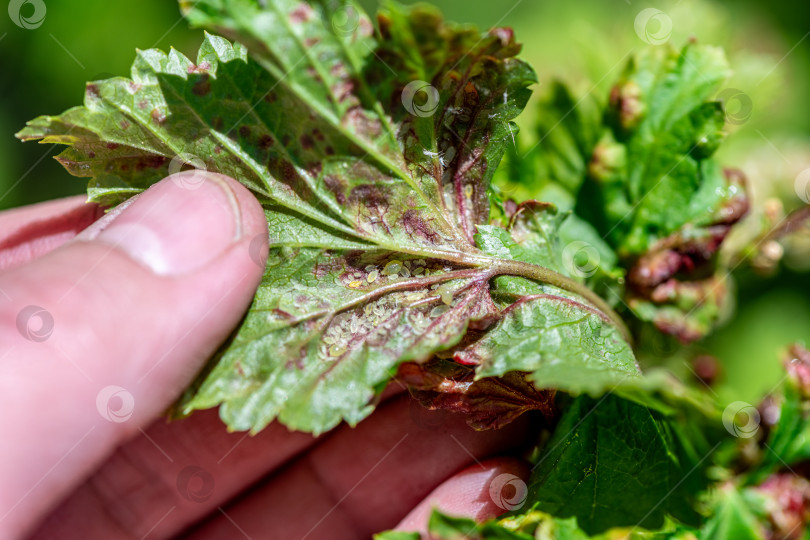
[[[524,445],[528,433],[526,419],[476,432],[451,413],[424,425],[414,420],[407,396],[392,400],[214,512],[190,537],[226,538],[241,530],[257,538],[369,538],[394,527],[475,460]]]

